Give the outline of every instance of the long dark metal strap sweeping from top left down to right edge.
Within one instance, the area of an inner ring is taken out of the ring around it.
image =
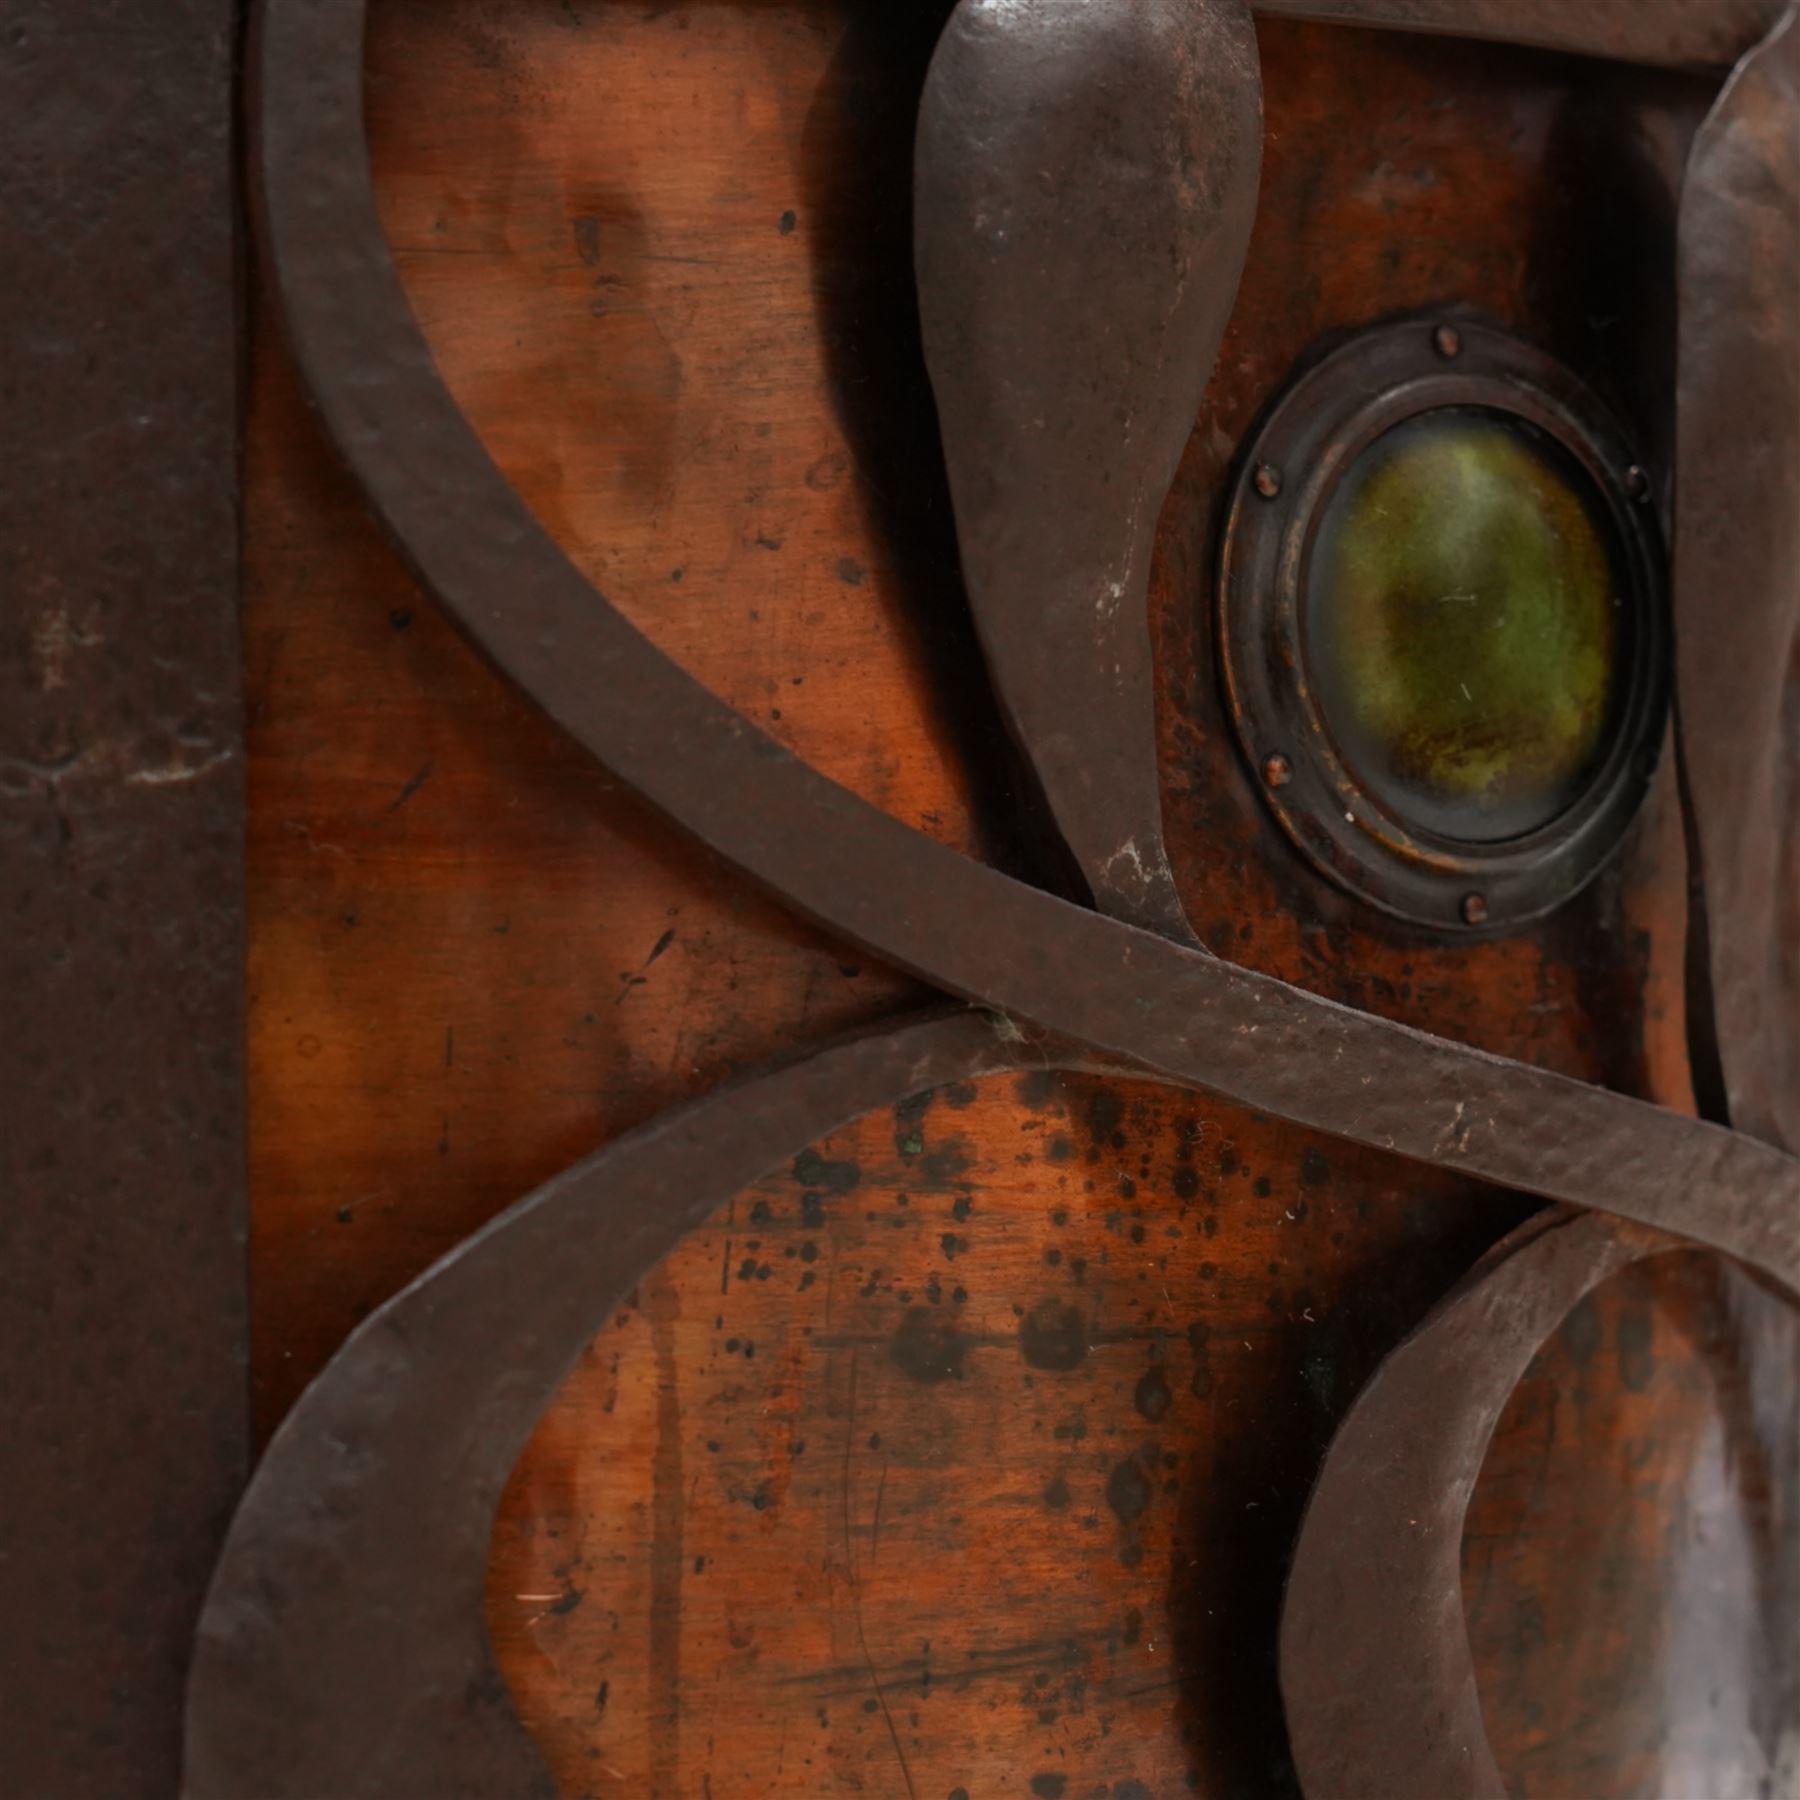
[[[1316,1130],[1678,1231],[1800,1289],[1791,1157],[1028,887],[808,769],[657,650],[531,517],[432,364],[374,209],[362,22],[364,0],[263,13],[259,202],[295,349],[419,580],[603,767],[949,994]]]

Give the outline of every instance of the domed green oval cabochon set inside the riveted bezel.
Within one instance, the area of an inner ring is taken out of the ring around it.
[[[1339,754],[1406,824],[1550,824],[1620,702],[1625,571],[1602,497],[1503,412],[1438,407],[1372,443],[1312,544],[1305,662]]]

